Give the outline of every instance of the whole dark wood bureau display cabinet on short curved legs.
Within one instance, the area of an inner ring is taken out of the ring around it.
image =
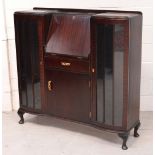
[[[15,12],[20,108],[118,133],[140,126],[142,14],[34,8]]]

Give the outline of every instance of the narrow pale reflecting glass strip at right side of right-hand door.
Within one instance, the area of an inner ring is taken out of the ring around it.
[[[114,125],[122,125],[124,26],[116,24],[114,32]]]

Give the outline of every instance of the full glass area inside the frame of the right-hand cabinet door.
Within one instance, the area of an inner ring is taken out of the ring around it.
[[[124,26],[97,25],[97,121],[122,125]]]

